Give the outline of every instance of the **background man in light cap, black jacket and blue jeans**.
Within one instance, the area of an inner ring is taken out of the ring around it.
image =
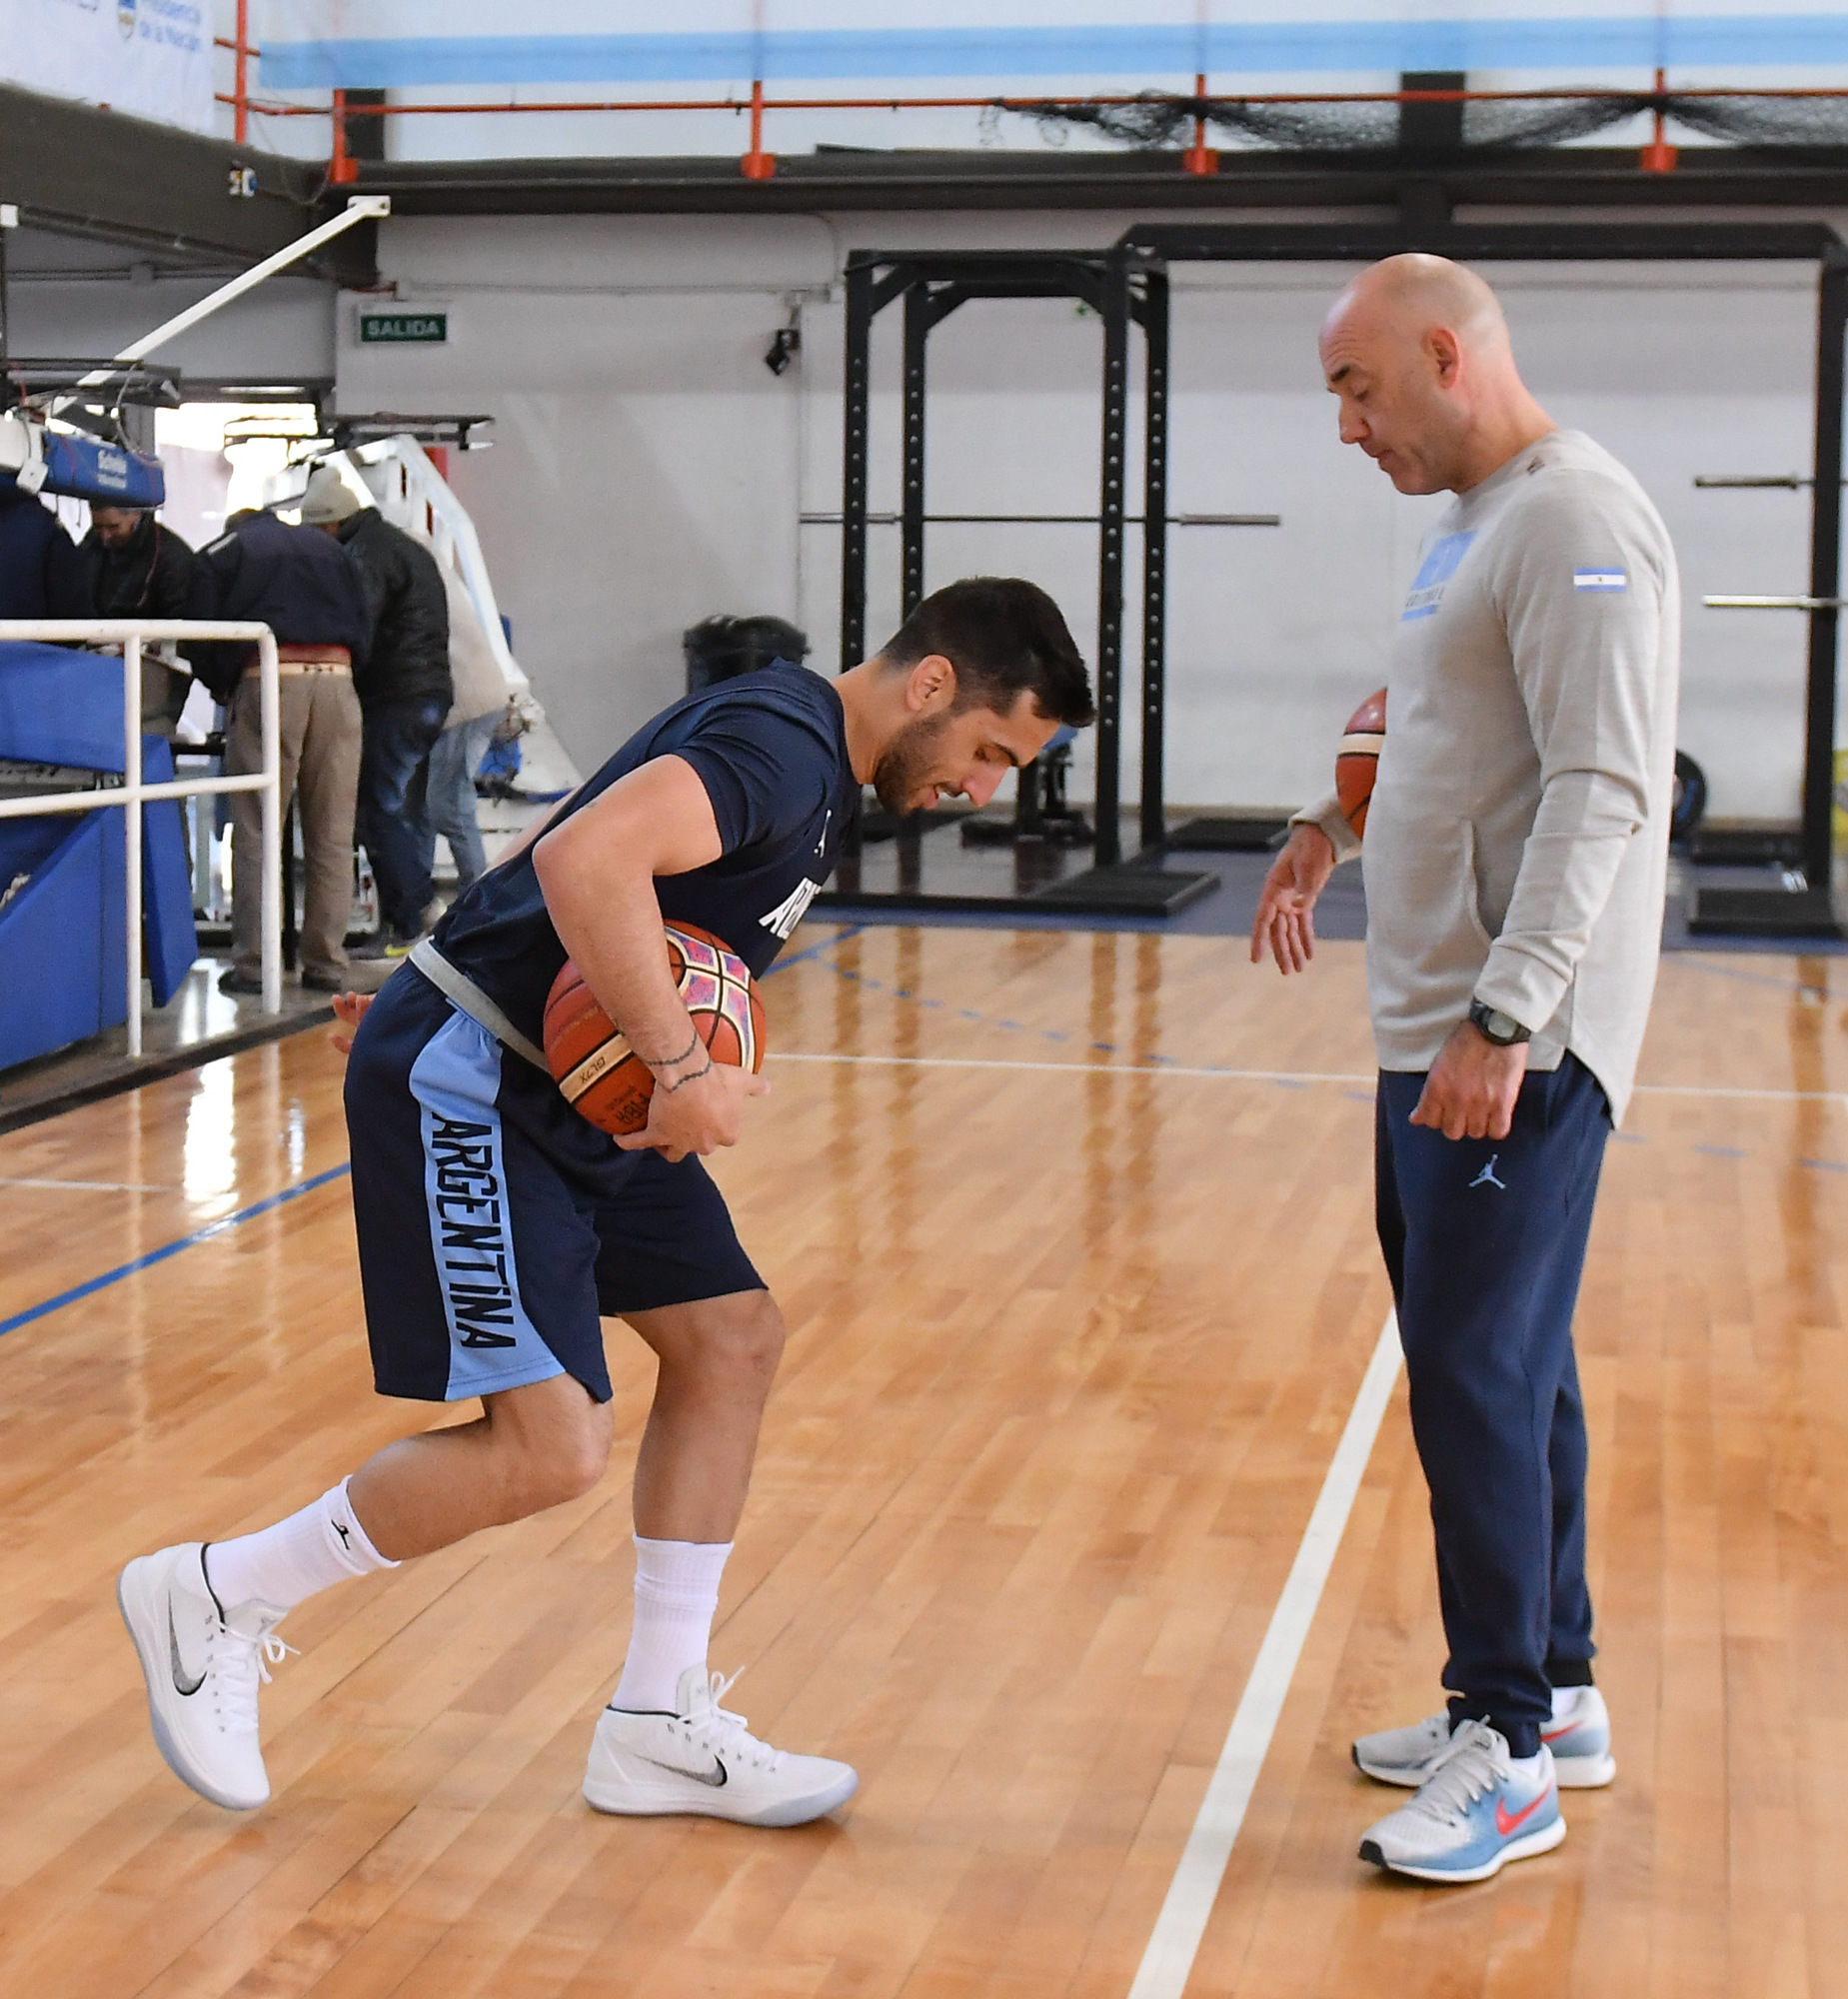
[[[360,842],[378,882],[376,950],[402,958],[430,928],[436,894],[412,788],[454,700],[448,592],[430,550],[360,500],[332,466],[316,468],[308,480],[302,526],[332,534],[366,590],[372,648],[356,676],[366,718]]]

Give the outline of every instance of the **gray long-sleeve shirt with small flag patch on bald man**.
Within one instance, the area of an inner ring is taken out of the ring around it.
[[[1460,494],[1392,648],[1366,820],[1380,1067],[1428,1069],[1470,1000],[1570,1049],[1622,1119],[1656,982],[1680,588],[1662,518],[1580,432]],[[1298,814],[1360,852],[1334,798]]]

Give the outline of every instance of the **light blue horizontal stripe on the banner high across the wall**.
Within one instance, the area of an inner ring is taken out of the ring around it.
[[[1502,20],[1070,22],[642,34],[264,36],[266,90],[420,84],[736,84],[908,76],[1220,76],[1652,70],[1848,60],[1840,14],[1562,14]]]

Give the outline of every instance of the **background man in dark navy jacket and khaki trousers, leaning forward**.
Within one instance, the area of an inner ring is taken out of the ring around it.
[[[270,514],[234,514],[200,550],[190,618],[260,620],[282,654],[282,810],[302,800],[308,886],[302,910],[302,984],[352,986],[346,918],[352,910],[354,800],[360,784],[360,700],[372,622],[352,564],[324,536]],[[256,648],[192,646],[192,670],[226,704],[224,768],[264,766]],[[232,968],[220,992],[262,992],[262,806],[232,792]]]

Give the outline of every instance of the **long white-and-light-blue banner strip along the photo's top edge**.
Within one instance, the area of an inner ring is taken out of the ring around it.
[[[1840,0],[266,0],[272,90],[1848,60]]]

